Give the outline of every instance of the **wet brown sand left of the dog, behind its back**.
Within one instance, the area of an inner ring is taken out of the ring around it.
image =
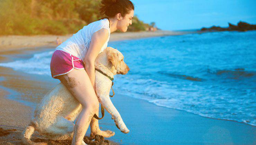
[[[49,76],[26,74],[11,68],[0,67],[0,70],[0,144],[22,144],[21,133],[30,123],[36,104],[59,81]],[[89,136],[90,133],[86,135]],[[38,132],[32,135],[31,140],[49,145],[71,144],[71,141],[46,139]]]

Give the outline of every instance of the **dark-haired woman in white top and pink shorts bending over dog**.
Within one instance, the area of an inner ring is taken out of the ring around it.
[[[51,60],[52,77],[59,79],[83,107],[75,123],[72,144],[82,143],[93,115],[99,114],[94,84],[95,58],[107,47],[111,32],[127,31],[134,16],[134,5],[129,0],[102,0],[100,12],[107,18],[84,26],[56,48]],[[96,123],[98,125],[98,121]]]

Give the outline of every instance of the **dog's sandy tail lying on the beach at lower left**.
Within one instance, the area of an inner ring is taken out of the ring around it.
[[[22,133],[21,141],[25,145],[47,145],[46,143],[35,143],[30,140],[30,137],[35,132],[33,123],[29,124]]]

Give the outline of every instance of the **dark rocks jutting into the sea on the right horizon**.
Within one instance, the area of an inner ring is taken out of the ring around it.
[[[219,26],[212,26],[210,28],[203,27],[201,31],[248,31],[248,30],[256,30],[256,25],[250,25],[249,23],[240,21],[237,26],[231,23],[228,23],[228,28],[222,28]]]

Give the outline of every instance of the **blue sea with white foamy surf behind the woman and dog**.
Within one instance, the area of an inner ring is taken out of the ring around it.
[[[212,32],[110,42],[125,56],[119,94],[200,116],[256,126],[256,31]],[[2,63],[51,76],[53,51]]]

